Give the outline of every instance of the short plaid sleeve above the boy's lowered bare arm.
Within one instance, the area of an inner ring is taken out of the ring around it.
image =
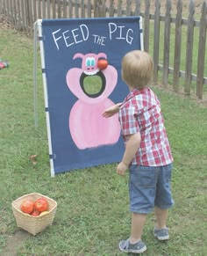
[[[139,133],[139,123],[134,106],[123,106],[120,108],[118,117],[123,135],[133,135]]]

